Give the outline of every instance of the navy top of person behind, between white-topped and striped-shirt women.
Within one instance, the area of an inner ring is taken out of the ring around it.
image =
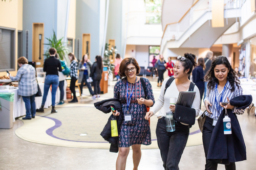
[[[201,65],[194,68],[192,71],[193,82],[196,84],[198,89],[204,88],[204,70]]]

